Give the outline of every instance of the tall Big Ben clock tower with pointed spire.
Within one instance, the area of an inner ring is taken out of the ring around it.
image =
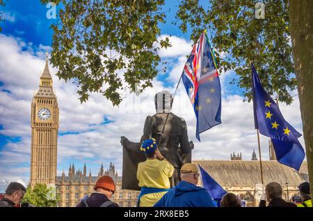
[[[31,187],[56,183],[58,102],[52,88],[48,56],[39,90],[31,102]]]

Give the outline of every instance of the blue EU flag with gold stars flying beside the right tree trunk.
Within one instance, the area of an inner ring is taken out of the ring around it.
[[[255,129],[271,137],[278,162],[298,171],[305,158],[303,147],[298,141],[301,134],[284,119],[278,105],[264,91],[252,63],[251,68]]]

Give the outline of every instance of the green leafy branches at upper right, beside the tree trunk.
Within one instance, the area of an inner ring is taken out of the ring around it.
[[[293,100],[290,91],[296,87],[296,77],[291,59],[288,1],[263,1],[265,19],[255,18],[257,2],[260,1],[210,0],[209,8],[204,8],[202,1],[182,0],[176,17],[183,32],[191,27],[194,41],[203,29],[211,30],[219,67],[236,71],[239,78],[233,79],[232,84],[246,89],[246,98],[252,97],[250,60],[266,91],[290,104]]]

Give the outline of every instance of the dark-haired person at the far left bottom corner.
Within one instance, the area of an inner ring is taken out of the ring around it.
[[[26,188],[21,183],[12,182],[6,188],[6,195],[0,199],[0,207],[13,207],[20,204]]]

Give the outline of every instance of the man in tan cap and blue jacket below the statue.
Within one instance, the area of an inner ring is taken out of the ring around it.
[[[216,201],[209,192],[197,186],[199,176],[196,165],[184,164],[181,169],[182,181],[163,195],[154,207],[216,207]]]

